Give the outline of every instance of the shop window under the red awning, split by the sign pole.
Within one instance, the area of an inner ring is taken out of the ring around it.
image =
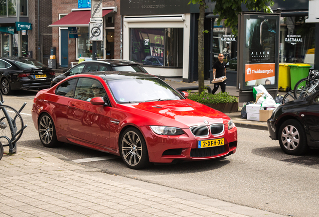
[[[103,42],[97,43],[97,59],[103,59],[104,57],[104,45]],[[78,28],[78,49],[77,58],[91,58],[92,57],[92,41],[89,40],[89,28]]]

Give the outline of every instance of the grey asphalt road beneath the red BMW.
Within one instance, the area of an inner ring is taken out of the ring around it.
[[[19,146],[53,152],[69,160],[110,156],[70,144],[43,147],[30,115],[34,95],[34,91],[24,91],[4,96],[5,104],[17,109],[27,102],[22,117],[28,127]],[[285,155],[267,131],[238,128],[237,152],[218,160],[154,165],[144,170],[128,169],[120,158],[81,164],[274,213],[319,215],[319,151],[302,157]]]

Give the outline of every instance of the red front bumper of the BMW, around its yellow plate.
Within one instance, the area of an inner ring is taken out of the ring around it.
[[[225,126],[227,129],[227,126]],[[190,129],[183,129],[185,134],[179,136],[157,135],[149,126],[141,127],[149,161],[153,163],[171,163],[173,160],[197,161],[224,157],[236,152],[237,128],[225,130],[218,136],[195,137]],[[198,141],[224,138],[224,146],[198,148]]]

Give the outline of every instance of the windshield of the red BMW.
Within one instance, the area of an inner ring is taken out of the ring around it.
[[[107,80],[118,103],[184,99],[178,91],[159,78],[127,78]]]

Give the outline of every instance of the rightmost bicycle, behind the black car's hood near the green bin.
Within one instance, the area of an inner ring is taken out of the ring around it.
[[[310,70],[306,78],[300,79],[293,88],[295,98],[302,98],[319,90],[319,71]]]

